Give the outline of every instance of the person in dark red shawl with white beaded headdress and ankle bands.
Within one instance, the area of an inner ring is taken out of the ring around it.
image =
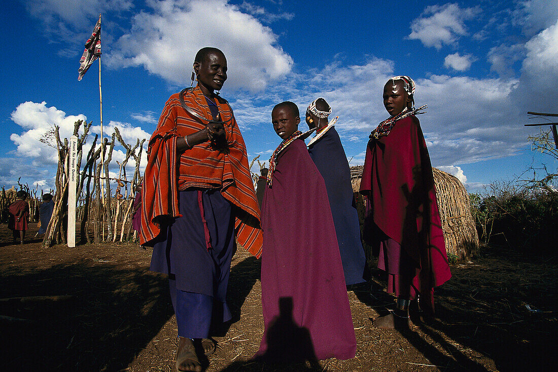
[[[379,328],[411,324],[408,308],[434,314],[434,290],[451,277],[436,203],[430,157],[414,109],[415,82],[395,76],[384,86],[391,115],[370,136],[360,193],[367,199],[365,239],[379,247],[378,268],[388,274],[388,292],[397,307],[379,317]]]

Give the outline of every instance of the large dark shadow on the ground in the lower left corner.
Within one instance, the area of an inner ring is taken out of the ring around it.
[[[0,273],[3,298],[72,296],[0,305],[4,370],[118,371],[172,316],[165,278],[89,260]]]

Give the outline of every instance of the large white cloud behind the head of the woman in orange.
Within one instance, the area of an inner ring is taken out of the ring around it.
[[[261,91],[292,67],[271,28],[225,0],[148,2],[152,13],[132,18],[131,30],[108,53],[108,65],[142,66],[177,85],[190,79],[195,53],[214,46],[227,56],[225,89]]]

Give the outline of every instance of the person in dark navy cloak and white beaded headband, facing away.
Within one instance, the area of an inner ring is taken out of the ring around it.
[[[337,118],[330,124],[329,114],[331,107],[323,98],[315,100],[306,109],[308,128],[316,128],[316,136],[308,144],[308,153],[324,177],[343,262],[345,284],[351,285],[368,280],[368,266],[360,240],[357,208],[353,203],[349,162],[334,128]]]

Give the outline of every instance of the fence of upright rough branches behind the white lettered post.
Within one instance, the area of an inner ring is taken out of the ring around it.
[[[132,229],[132,205],[136,188],[141,183],[140,161],[145,139],[137,140],[134,146],[126,144],[118,128],[110,138],[104,139],[103,146],[99,146],[98,135],[95,135],[92,146],[85,156],[85,164],[81,167],[83,146],[89,137],[89,130],[93,122],[87,123],[78,120],[74,124],[74,135],[78,137],[77,166],[80,169],[76,189],[76,238],[78,243],[103,243],[103,242],[136,242],[137,232]],[[83,127],[83,134],[79,135]],[[69,172],[69,143],[68,139],[60,139],[59,127],[52,131],[53,141],[56,141],[58,153],[58,168],[55,179],[54,211],[46,229],[43,246],[67,243],[68,232],[68,172]],[[119,166],[118,176],[109,177],[109,165],[116,141],[126,150],[126,157]],[[53,146],[54,147],[54,146]],[[101,151],[104,151],[104,174],[100,162]],[[131,179],[126,174],[126,165],[129,160],[135,161]],[[104,203],[101,190],[101,179],[104,179]],[[113,189],[114,186],[114,189]],[[9,191],[9,190],[8,190]],[[7,192],[4,190],[2,197]],[[0,198],[0,203],[3,203]],[[34,200],[34,199],[33,199]],[[37,199],[39,200],[39,199]],[[3,204],[2,204],[3,205]],[[31,201],[30,201],[31,207]],[[35,208],[35,207],[33,207]],[[36,209],[38,211],[39,202]],[[36,213],[38,221],[39,214]]]

